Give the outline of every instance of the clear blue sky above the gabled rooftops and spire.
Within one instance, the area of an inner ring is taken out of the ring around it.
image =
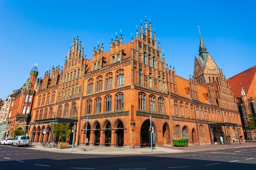
[[[199,31],[226,78],[256,65],[256,2],[249,1],[0,1],[0,98],[19,89],[38,63],[38,78],[64,63],[74,35],[87,58],[112,34],[131,40],[136,25],[151,19],[166,63],[189,79],[198,56]]]

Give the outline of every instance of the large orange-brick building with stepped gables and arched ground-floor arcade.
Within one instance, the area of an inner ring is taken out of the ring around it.
[[[201,35],[200,42],[204,49]],[[177,76],[174,68],[165,63],[156,34],[146,21],[134,40],[123,44],[121,34],[119,39],[116,36],[111,40],[109,51],[103,49],[102,43],[87,59],[77,37],[64,68],[52,68],[51,75],[46,72],[35,97],[32,141],[48,140],[52,136],[48,122],[59,118],[77,120],[74,140],[78,145],[84,145],[86,134],[87,145],[148,146],[150,126],[154,128],[155,146],[172,145],[173,139],[180,138],[188,138],[189,145],[212,143],[213,137],[219,141],[220,136],[224,142],[233,136],[239,140],[241,120],[223,72],[217,67],[212,69],[208,81],[209,74],[199,63],[206,60],[202,63],[207,68],[215,64],[209,64],[212,58],[206,48],[203,55],[199,49],[194,78],[189,80]],[[86,122],[87,118],[90,121]],[[216,123],[229,123],[227,130],[232,135]]]

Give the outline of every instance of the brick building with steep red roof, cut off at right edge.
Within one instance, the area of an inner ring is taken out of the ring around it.
[[[248,125],[248,115],[255,116],[256,102],[256,66],[249,68],[228,79],[228,83],[236,98],[243,128]],[[256,130],[245,130],[244,137],[256,140]]]

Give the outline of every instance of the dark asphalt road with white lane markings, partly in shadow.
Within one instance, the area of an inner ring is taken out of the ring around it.
[[[0,146],[0,169],[256,169],[256,147],[154,155],[89,155]]]

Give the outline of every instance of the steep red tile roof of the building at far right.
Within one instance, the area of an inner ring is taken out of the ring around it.
[[[256,98],[256,66],[228,79],[228,84],[237,102],[242,100],[240,83],[242,83],[247,99]]]

